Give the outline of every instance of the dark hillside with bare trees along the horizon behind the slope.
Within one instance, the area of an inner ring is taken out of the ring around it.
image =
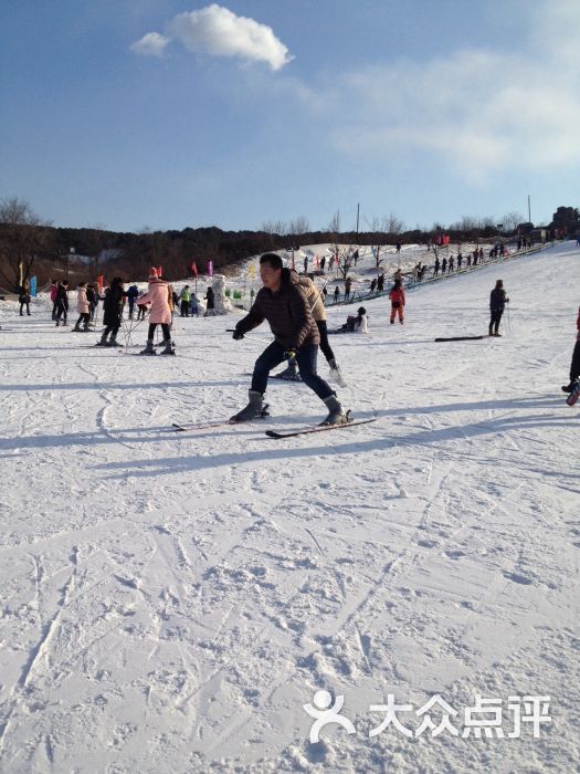
[[[558,208],[560,219],[568,219],[574,208]],[[555,216],[556,217],[556,216]],[[571,216],[570,216],[571,217]],[[289,221],[266,221],[259,231],[222,231],[215,227],[181,231],[117,233],[97,224],[83,229],[55,228],[34,212],[31,205],[19,198],[0,200],[0,286],[17,291],[32,274],[39,281],[75,273],[78,279],[95,280],[101,273],[124,273],[131,279],[146,278],[149,268],[162,266],[172,279],[191,276],[192,264],[200,273],[208,262],[213,268],[267,250],[293,249],[298,243],[330,243],[336,266],[346,278],[356,261],[360,243],[370,244],[377,268],[387,249],[397,242],[430,243],[435,234],[452,233],[455,241],[513,233],[525,223],[519,212],[506,212],[497,222],[489,217],[462,216],[445,227],[433,223],[430,229],[405,230],[404,222],[393,212],[365,218],[366,230],[344,230],[337,210],[326,229],[313,231],[308,218],[298,216]],[[358,228],[358,223],[357,223]],[[77,254],[84,255],[81,264]]]

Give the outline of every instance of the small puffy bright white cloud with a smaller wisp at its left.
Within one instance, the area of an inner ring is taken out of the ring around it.
[[[175,39],[194,53],[265,62],[272,70],[280,70],[294,59],[272,28],[238,17],[215,3],[199,11],[180,13],[169,22],[167,32],[168,36],[149,32],[134,43],[131,50],[159,56],[167,43]]]

